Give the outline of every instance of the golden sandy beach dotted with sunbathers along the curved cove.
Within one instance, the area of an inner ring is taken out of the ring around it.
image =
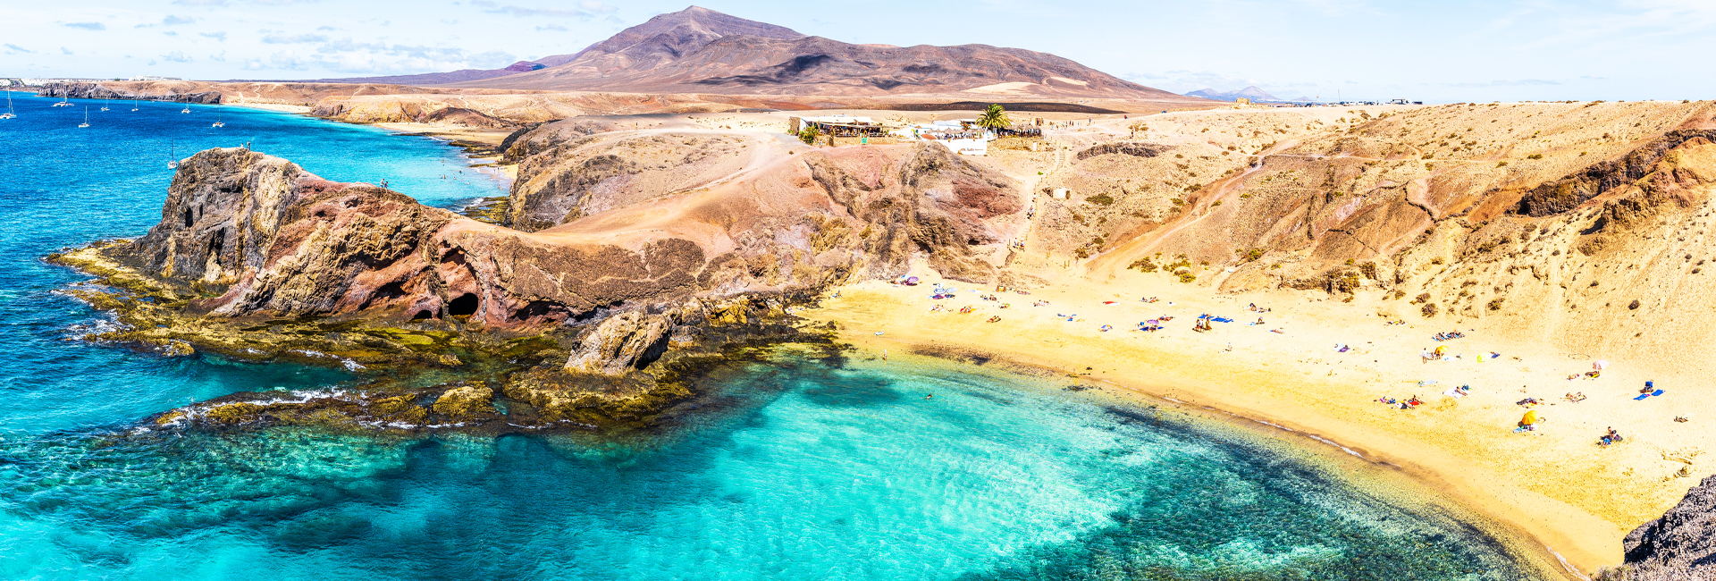
[[[1306,291],[1213,295],[1163,274],[1124,273],[1100,285],[1031,288],[1030,295],[946,281],[958,288],[958,298],[932,300],[940,279],[916,274],[923,278],[918,286],[872,281],[841,288],[841,296],[805,315],[839,322],[843,336],[868,351],[985,353],[1110,384],[1157,404],[1268,422],[1290,430],[1282,432],[1289,439],[1338,446],[1375,466],[1409,473],[1586,574],[1620,562],[1622,536],[1697,483],[1677,473],[1690,463],[1690,475],[1702,475],[1695,444],[1713,435],[1697,422],[1707,416],[1707,404],[1677,399],[1671,389],[1632,399],[1646,379],[1685,386],[1689,370],[1615,360],[1598,379],[1568,380],[1568,374],[1591,370],[1591,360],[1507,341],[1476,322],[1409,319],[1388,326],[1400,320],[1393,310],[1411,307],[1383,302],[1375,296],[1380,293],[1359,293],[1350,303]],[[980,298],[987,295],[997,300]],[[1145,296],[1158,300],[1146,303]],[[944,310],[932,312],[935,303]],[[1251,303],[1268,312],[1248,310]],[[975,310],[959,314],[966,305]],[[1234,322],[1194,332],[1199,314]],[[995,315],[999,322],[987,322]],[[1133,331],[1160,315],[1174,317],[1162,331]],[[1258,317],[1265,324],[1253,326]],[[1103,324],[1114,329],[1100,331]],[[1465,338],[1431,339],[1455,329]],[[1421,360],[1421,350],[1441,344],[1452,360]],[[1491,360],[1493,351],[1502,356]],[[1445,394],[1457,386],[1471,386],[1471,394]],[[1567,392],[1587,399],[1572,403]],[[1414,410],[1378,401],[1414,396],[1424,401]],[[1526,398],[1543,404],[1517,404]],[[1536,430],[1517,432],[1529,410],[1544,420]],[[1606,427],[1627,440],[1599,447]]]

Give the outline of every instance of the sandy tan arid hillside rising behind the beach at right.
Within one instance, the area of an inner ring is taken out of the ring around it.
[[[1716,296],[1711,115],[1491,103],[1115,120],[1054,135],[1071,151],[1036,185],[1031,247],[1098,278],[1380,293],[1419,319],[1529,320],[1505,329],[1580,353],[1704,355],[1687,343]]]

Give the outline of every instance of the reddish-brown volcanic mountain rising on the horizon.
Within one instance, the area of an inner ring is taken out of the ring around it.
[[[999,48],[849,45],[793,29],[690,7],[661,14],[547,65],[484,79],[436,81],[453,87],[714,93],[897,94],[975,91],[995,94],[1145,98],[1184,101],[1055,55]],[[369,82],[371,79],[347,79]]]

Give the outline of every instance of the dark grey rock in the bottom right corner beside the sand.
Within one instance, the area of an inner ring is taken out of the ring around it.
[[[1644,523],[1622,545],[1627,562],[1603,581],[1716,579],[1716,476],[1704,478],[1663,518]]]

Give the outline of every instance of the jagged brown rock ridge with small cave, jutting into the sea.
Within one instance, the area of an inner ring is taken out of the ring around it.
[[[161,223],[113,254],[216,290],[189,307],[196,314],[470,317],[486,327],[554,326],[688,295],[705,262],[676,238],[637,249],[553,243],[247,149],[187,159]]]

